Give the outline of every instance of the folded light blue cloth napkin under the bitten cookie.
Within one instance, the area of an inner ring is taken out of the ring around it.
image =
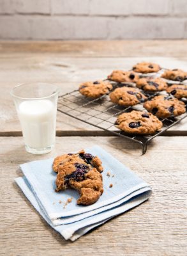
[[[56,173],[52,171],[54,159],[21,164],[25,177],[15,181],[31,204],[65,239],[74,241],[113,216],[141,204],[151,195],[151,188],[126,166],[98,146],[86,152],[100,157],[103,163],[104,193],[93,205],[77,205],[77,191],[54,191]],[[107,173],[110,172],[110,175]],[[113,184],[110,188],[110,184]],[[71,204],[60,204],[72,197]]]

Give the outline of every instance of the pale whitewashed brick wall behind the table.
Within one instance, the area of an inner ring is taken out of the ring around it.
[[[187,38],[187,0],[0,0],[0,39]]]

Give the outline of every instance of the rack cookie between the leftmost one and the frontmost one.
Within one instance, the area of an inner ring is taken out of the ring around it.
[[[120,106],[133,106],[147,99],[138,88],[126,86],[116,88],[109,96],[113,103]]]

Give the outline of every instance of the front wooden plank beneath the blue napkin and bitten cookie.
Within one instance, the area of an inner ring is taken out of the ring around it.
[[[100,145],[146,180],[150,200],[121,214],[75,243],[64,241],[22,195],[13,179],[20,163]],[[22,138],[1,138],[1,255],[186,255],[187,138],[156,138],[144,156],[130,141],[115,137],[57,138],[56,149],[33,156]]]

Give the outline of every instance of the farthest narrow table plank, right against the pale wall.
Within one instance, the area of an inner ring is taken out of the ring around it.
[[[0,52],[56,52],[63,56],[185,56],[187,40],[1,41]]]

